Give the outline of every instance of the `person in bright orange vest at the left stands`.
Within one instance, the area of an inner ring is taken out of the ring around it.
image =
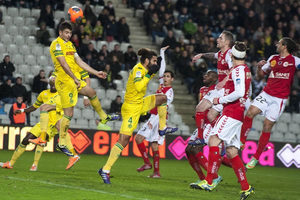
[[[30,125],[30,113],[29,112],[21,112],[20,114],[13,114],[13,111],[16,109],[24,109],[26,104],[23,103],[23,96],[17,96],[16,102],[13,103],[9,110],[9,119],[10,124],[25,124],[27,120],[27,125]],[[25,120],[26,119],[26,120]]]

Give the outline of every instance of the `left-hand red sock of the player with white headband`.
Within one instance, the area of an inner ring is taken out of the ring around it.
[[[221,156],[219,154],[219,147],[209,146],[207,175],[205,178],[208,184],[212,184],[212,179],[215,177],[215,174],[217,174],[220,164]]]

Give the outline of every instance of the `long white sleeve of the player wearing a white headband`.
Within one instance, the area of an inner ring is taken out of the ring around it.
[[[239,71],[238,76],[236,76],[237,70]],[[236,67],[232,70],[231,78],[234,83],[234,91],[229,93],[226,96],[220,97],[219,103],[232,102],[244,95],[244,93],[245,93],[245,73],[243,71],[244,71],[243,65],[239,65],[238,67]]]

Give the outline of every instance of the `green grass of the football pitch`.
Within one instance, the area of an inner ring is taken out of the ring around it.
[[[9,160],[13,151],[0,150],[0,161]],[[70,170],[62,153],[44,152],[38,171],[29,171],[33,151],[24,152],[13,169],[0,168],[0,199],[239,199],[240,186],[233,170],[224,165],[223,181],[212,192],[189,188],[197,180],[186,160],[160,160],[160,179],[138,173],[138,157],[120,157],[111,170],[111,185],[97,174],[107,156],[81,154]],[[247,172],[255,193],[249,199],[300,199],[300,170],[257,166]]]

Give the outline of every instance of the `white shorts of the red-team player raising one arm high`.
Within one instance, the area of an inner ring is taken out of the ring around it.
[[[160,136],[158,134],[158,127],[159,127],[159,120],[155,120],[152,122],[152,128],[150,129],[148,126],[148,122],[154,117],[155,115],[151,114],[150,118],[147,122],[145,122],[141,128],[138,130],[137,134],[140,134],[145,137],[145,139],[149,142],[157,141],[158,144],[162,145],[164,141],[164,136]]]

